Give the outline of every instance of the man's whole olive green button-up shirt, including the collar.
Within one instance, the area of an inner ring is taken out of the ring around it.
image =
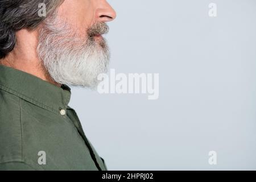
[[[0,65],[0,170],[107,169],[70,97],[67,85]]]

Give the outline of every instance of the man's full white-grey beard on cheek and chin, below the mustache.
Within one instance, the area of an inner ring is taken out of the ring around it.
[[[37,49],[43,67],[59,84],[95,88],[97,76],[108,71],[110,53],[105,39],[82,39],[67,23],[47,20]]]

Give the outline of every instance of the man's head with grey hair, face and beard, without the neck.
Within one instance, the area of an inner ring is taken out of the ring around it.
[[[46,17],[38,14],[40,3]],[[0,59],[22,45],[22,30],[36,31],[36,55],[55,82],[95,86],[109,62],[101,35],[114,18],[106,0],[0,0]]]

